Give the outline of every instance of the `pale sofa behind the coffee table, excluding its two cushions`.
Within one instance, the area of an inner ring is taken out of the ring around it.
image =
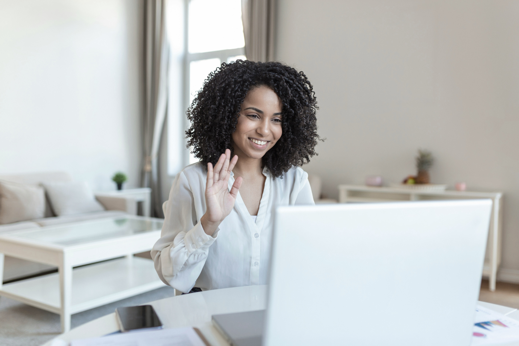
[[[19,184],[37,185],[41,183],[61,183],[72,182],[72,177],[66,172],[46,172],[33,174],[17,174],[17,175],[0,175],[0,180],[15,182]],[[95,196],[95,198],[103,205],[104,211],[82,213],[66,216],[56,216],[52,213],[52,209],[48,200],[45,201],[45,217],[16,222],[12,224],[0,225],[0,234],[16,232],[31,228],[40,228],[44,226],[60,225],[65,223],[75,223],[89,219],[97,219],[111,217],[121,214],[136,214],[136,203],[131,198],[117,196]],[[2,205],[0,205],[0,213]],[[3,281],[11,281],[24,278],[30,275],[37,275],[42,272],[55,270],[56,268],[44,264],[26,261],[23,259],[5,256],[4,261],[4,278]],[[0,278],[2,279],[2,278]]]

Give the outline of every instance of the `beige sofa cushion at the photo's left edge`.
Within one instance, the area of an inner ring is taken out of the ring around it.
[[[41,186],[0,181],[0,224],[31,220],[45,215]]]

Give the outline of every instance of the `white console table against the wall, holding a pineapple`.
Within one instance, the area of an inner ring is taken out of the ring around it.
[[[496,290],[497,270],[501,263],[501,198],[502,192],[472,191],[423,191],[405,187],[376,187],[359,185],[339,185],[339,203],[373,203],[394,201],[420,201],[445,199],[489,198],[493,202],[488,230],[488,241],[483,266],[483,276],[488,276],[490,290]]]

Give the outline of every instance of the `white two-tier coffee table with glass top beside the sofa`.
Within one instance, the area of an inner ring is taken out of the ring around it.
[[[57,266],[58,273],[3,286],[0,280],[0,296],[60,314],[62,332],[68,331],[71,314],[165,286],[152,260],[133,256],[151,250],[162,223],[123,215],[3,234],[0,279],[4,254]]]

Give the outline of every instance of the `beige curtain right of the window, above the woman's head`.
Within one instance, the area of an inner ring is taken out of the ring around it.
[[[275,0],[241,0],[245,56],[274,61]]]

